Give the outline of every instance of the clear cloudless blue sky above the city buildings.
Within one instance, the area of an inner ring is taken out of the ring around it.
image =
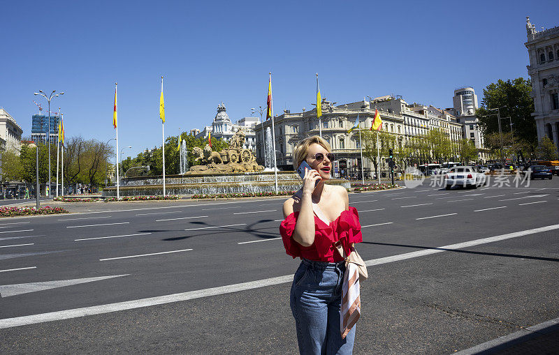
[[[5,1],[0,0],[0,106],[31,134],[34,91],[52,101],[66,137],[115,136],[130,154],[210,125],[226,104],[236,121],[266,105],[310,109],[315,75],[328,100],[402,95],[451,107],[453,90],[528,77],[525,16],[559,25],[559,1]],[[52,109],[52,111],[55,111]],[[56,109],[57,110],[57,109]]]

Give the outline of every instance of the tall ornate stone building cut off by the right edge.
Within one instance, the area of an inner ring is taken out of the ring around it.
[[[559,26],[536,31],[526,17],[526,31],[537,139],[547,135],[559,149]]]

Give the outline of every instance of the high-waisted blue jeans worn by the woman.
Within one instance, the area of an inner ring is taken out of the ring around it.
[[[355,328],[340,335],[340,303],[344,262],[303,259],[293,276],[291,312],[297,326],[300,354],[351,354]]]

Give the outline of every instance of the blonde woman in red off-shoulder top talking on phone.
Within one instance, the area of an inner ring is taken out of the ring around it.
[[[303,188],[284,202],[279,227],[287,254],[301,258],[290,297],[301,354],[351,354],[354,347],[355,326],[345,338],[340,335],[345,264],[335,243],[349,255],[353,243],[361,242],[361,225],[345,188],[324,183],[331,177],[331,151],[316,135],[299,142],[293,165],[297,169],[305,160],[312,169],[305,172]],[[327,220],[314,216],[313,203]]]

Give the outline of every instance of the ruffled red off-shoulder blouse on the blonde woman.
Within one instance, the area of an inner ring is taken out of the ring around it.
[[[344,252],[349,255],[351,243],[361,243],[361,224],[359,215],[354,207],[343,211],[336,220],[329,225],[317,216],[314,216],[314,243],[312,246],[301,246],[293,239],[293,232],[299,212],[293,212],[287,216],[279,225],[279,233],[282,234],[285,252],[296,257],[304,257],[319,262],[341,262],[342,256],[337,252],[334,244],[342,242]]]

